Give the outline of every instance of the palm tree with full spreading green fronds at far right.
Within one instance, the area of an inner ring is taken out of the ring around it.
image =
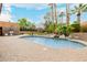
[[[75,6],[75,8],[74,8],[74,10],[72,10],[72,12],[74,14],[76,13],[76,15],[77,15],[77,22],[78,22],[78,24],[80,26],[80,15],[81,15],[83,12],[87,12],[87,4],[80,3],[78,6]],[[79,29],[79,31],[80,31],[80,29]]]

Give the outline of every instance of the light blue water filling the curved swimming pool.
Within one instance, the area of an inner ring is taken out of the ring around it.
[[[81,48],[86,46],[79,42],[74,42],[65,39],[51,39],[41,36],[23,36],[23,39],[52,48]]]

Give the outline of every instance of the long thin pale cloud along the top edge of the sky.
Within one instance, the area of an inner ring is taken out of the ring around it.
[[[42,10],[47,8],[47,4],[45,3],[12,3],[11,6],[17,8],[25,8],[28,10],[31,10],[31,9]]]

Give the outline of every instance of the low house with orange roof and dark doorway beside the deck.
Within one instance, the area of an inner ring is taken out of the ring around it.
[[[17,35],[20,29],[17,23],[0,21],[0,35]]]

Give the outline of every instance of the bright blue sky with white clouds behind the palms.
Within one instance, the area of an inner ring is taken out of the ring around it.
[[[70,4],[70,9],[74,9]],[[44,23],[43,17],[51,11],[47,3],[3,3],[0,20],[18,22],[19,19],[26,18],[29,21],[39,24]],[[66,3],[57,3],[57,14],[61,11],[66,12]],[[66,18],[64,18],[64,22]],[[70,22],[76,21],[76,15],[70,15]],[[87,13],[83,13],[81,21],[87,21]]]

